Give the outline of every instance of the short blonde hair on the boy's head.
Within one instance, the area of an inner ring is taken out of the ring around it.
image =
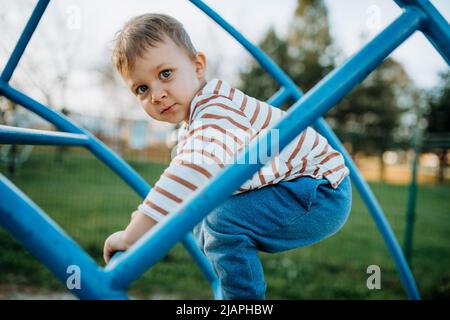
[[[133,69],[136,58],[142,57],[149,47],[163,42],[166,36],[184,49],[189,57],[195,58],[197,51],[178,20],[165,14],[147,13],[132,18],[116,33],[112,53],[116,69],[127,75]]]

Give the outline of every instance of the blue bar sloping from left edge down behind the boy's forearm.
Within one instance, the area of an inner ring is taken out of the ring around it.
[[[59,130],[66,131],[74,134],[82,134],[88,137],[89,144],[87,148],[103,163],[105,163],[113,172],[121,177],[133,190],[137,192],[139,196],[145,198],[150,192],[151,188],[147,182],[139,176],[139,174],[117,156],[113,151],[98,140],[87,130],[84,130],[74,124],[69,118],[56,111],[47,108],[40,104],[36,100],[24,95],[23,93],[15,90],[10,85],[0,80],[0,94],[4,95],[8,99],[16,102],[19,105],[27,108],[28,110],[36,113],[45,120],[54,124]],[[207,275],[207,280],[210,281],[213,289],[213,293],[217,296],[217,275],[210,266],[209,260],[200,251],[200,248],[195,243],[193,237],[187,235],[183,240],[183,244],[189,253],[193,254],[194,261],[199,265],[201,271]]]

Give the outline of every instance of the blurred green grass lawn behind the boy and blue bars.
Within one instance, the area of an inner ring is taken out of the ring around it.
[[[71,149],[62,166],[53,148],[35,148],[13,177],[22,191],[68,232],[101,265],[104,239],[123,229],[139,197],[90,154]],[[166,165],[129,162],[151,185]],[[371,184],[394,233],[403,242],[407,188]],[[420,186],[414,231],[413,274],[425,299],[450,298],[450,186]],[[0,230],[0,285],[43,290],[65,288],[3,229]],[[261,254],[269,299],[404,299],[395,266],[374,222],[354,192],[344,228],[316,245],[280,254]],[[381,290],[368,290],[366,269],[381,268]],[[208,283],[177,245],[130,287],[130,294],[209,299]]]

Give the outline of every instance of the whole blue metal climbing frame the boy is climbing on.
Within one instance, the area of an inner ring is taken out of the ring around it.
[[[450,26],[448,22],[427,0],[396,0],[396,3],[403,8],[403,13],[358,53],[303,95],[295,83],[267,55],[251,44],[215,11],[200,0],[190,1],[239,41],[279,83],[281,89],[269,99],[271,104],[279,106],[288,98],[296,101],[285,117],[273,127],[273,129],[279,129],[279,150],[282,150],[308,125],[314,124],[332,146],[342,152],[346,164],[350,168],[353,184],[361,194],[386,243],[399,271],[407,296],[410,299],[420,299],[414,278],[380,205],[352,159],[321,115],[339,102],[415,31],[421,31],[450,65]],[[78,127],[64,115],[51,110],[9,85],[9,80],[48,3],[49,0],[40,0],[37,3],[1,74],[0,94],[53,123],[62,132],[0,126],[0,144],[84,146],[144,198],[150,190],[148,184],[101,141]],[[198,190],[195,196],[186,200],[180,208],[147,232],[129,250],[121,255],[116,255],[104,268],[98,266],[54,221],[1,174],[0,223],[44,263],[62,283],[66,283],[69,276],[67,268],[71,265],[78,266],[82,271],[81,288],[73,289],[72,293],[79,298],[126,299],[126,288],[130,283],[159,261],[176,243],[183,241],[184,246],[211,283],[214,297],[221,299],[222,292],[219,281],[210,263],[196,246],[190,231],[264,165],[263,162],[244,164],[246,163],[244,160],[248,159],[250,154],[271,154],[271,146],[263,143],[267,141],[268,134],[259,137],[258,141],[240,153],[237,160],[239,165],[225,167],[207,186]],[[261,150],[261,147],[267,149]]]

